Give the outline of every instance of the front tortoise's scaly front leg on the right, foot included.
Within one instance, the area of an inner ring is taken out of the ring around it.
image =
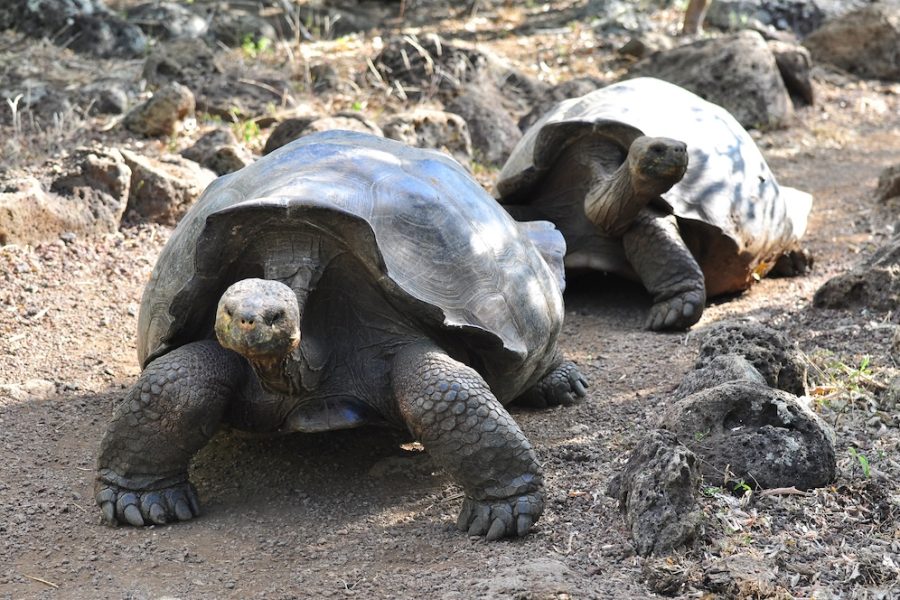
[[[394,359],[401,418],[465,490],[457,526],[488,540],[524,536],[544,510],[531,444],[474,369],[414,344]]]

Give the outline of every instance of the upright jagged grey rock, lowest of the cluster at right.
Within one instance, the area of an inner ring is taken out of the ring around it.
[[[618,500],[635,551],[648,556],[696,538],[699,485],[697,457],[675,435],[657,429],[638,444],[610,481],[607,495]]]

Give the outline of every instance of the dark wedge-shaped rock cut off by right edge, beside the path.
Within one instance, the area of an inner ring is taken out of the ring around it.
[[[846,273],[826,281],[813,295],[816,308],[897,310],[900,303],[900,235],[895,234],[872,256]]]

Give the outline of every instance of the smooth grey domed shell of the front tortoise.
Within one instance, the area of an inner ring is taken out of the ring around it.
[[[283,279],[315,263],[314,248],[269,244],[284,239],[270,235],[276,230],[314,232],[352,252],[392,303],[426,327],[467,336],[497,368],[528,371],[555,346],[558,231],[520,227],[443,154],[328,131],[216,180],[191,207],[144,292],[141,364],[207,337],[221,293],[237,279]],[[532,233],[556,248],[554,268]],[[251,242],[265,250],[255,259],[246,256]],[[353,293],[352,281],[347,287]]]

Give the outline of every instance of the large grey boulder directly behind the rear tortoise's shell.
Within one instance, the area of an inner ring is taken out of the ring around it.
[[[636,63],[628,76],[657,77],[680,85],[722,106],[747,128],[780,127],[793,115],[775,57],[755,31],[656,52]]]

